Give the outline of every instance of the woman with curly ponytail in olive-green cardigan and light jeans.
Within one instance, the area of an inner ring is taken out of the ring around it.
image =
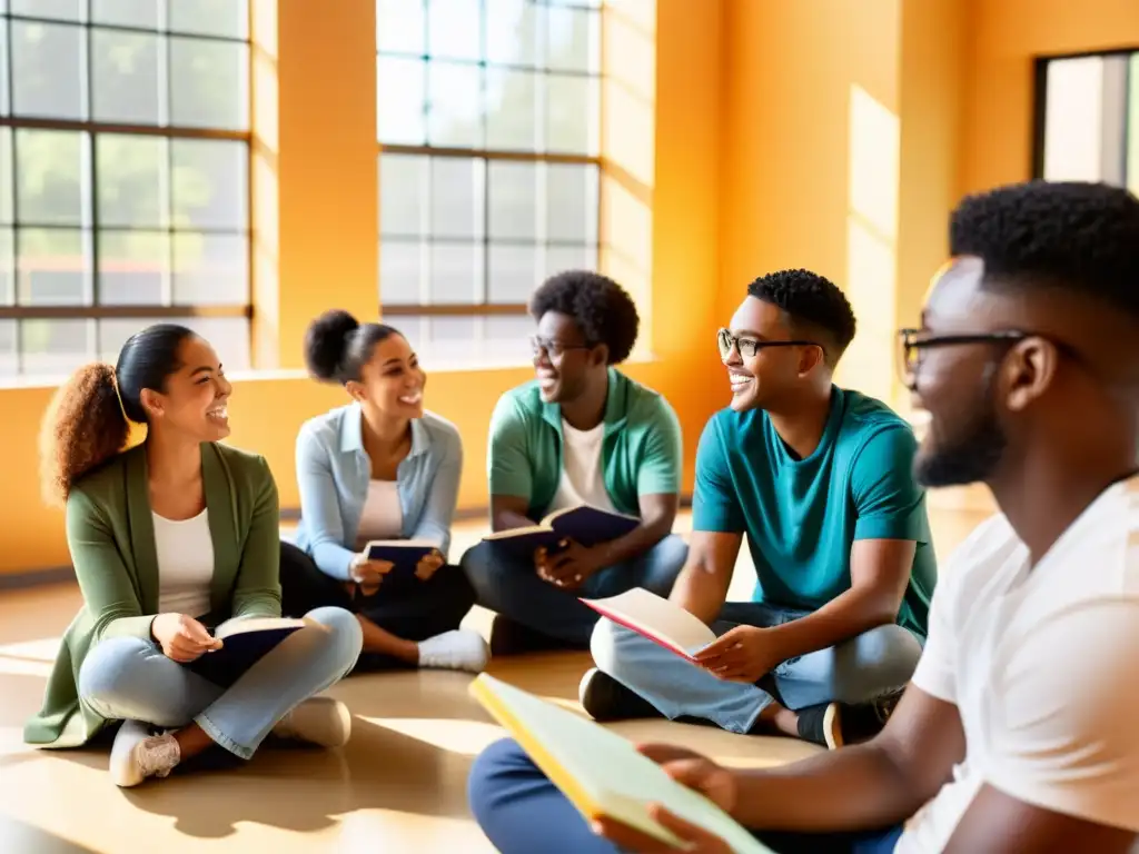
[[[186,666],[220,648],[211,626],[280,616],[277,486],[262,457],[221,444],[231,391],[208,343],[158,325],[132,336],[114,368],[81,368],[44,419],[44,495],[66,508],[83,607],[24,738],[77,747],[122,722],[117,786],[165,777],[215,745],[248,759],[270,732],[326,747],[349,738],[343,704],[314,697],[360,654],[345,610],[311,611],[318,627],[229,685]],[[123,451],[131,421],[146,441]]]

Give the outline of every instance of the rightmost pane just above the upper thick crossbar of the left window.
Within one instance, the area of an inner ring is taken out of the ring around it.
[[[182,128],[247,130],[249,46],[172,36],[170,123]]]

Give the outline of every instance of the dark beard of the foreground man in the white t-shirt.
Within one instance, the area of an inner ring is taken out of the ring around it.
[[[937,419],[931,421],[929,435],[913,459],[913,476],[919,484],[928,487],[965,486],[988,481],[1000,465],[1008,437],[1001,429],[993,405],[994,377],[995,371],[989,371],[976,414],[966,427],[958,429],[956,436],[939,440],[926,450],[926,445],[935,438]]]

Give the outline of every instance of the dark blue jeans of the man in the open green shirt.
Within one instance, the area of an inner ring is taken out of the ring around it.
[[[483,607],[535,632],[585,647],[598,614],[577,601],[579,597],[600,599],[632,588],[666,597],[687,559],[688,543],[670,534],[640,557],[587,578],[576,591],[542,581],[533,561],[519,560],[494,543],[475,545],[462,556],[461,565]]]

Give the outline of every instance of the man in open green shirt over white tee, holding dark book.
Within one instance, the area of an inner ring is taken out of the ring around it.
[[[533,525],[551,511],[590,504],[638,516],[612,542],[518,560],[483,542],[462,566],[478,602],[498,613],[495,654],[585,648],[597,613],[579,597],[672,590],[688,553],[672,534],[680,490],[680,422],[667,401],[613,366],[637,340],[637,306],[593,272],[552,277],[533,295],[538,379],[507,392],[490,429],[491,524]]]

